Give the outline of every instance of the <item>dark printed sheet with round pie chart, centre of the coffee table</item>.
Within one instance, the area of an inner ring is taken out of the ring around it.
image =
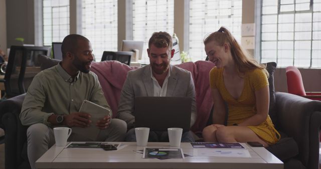
[[[183,150],[181,148],[144,148],[143,158],[184,158]]]

